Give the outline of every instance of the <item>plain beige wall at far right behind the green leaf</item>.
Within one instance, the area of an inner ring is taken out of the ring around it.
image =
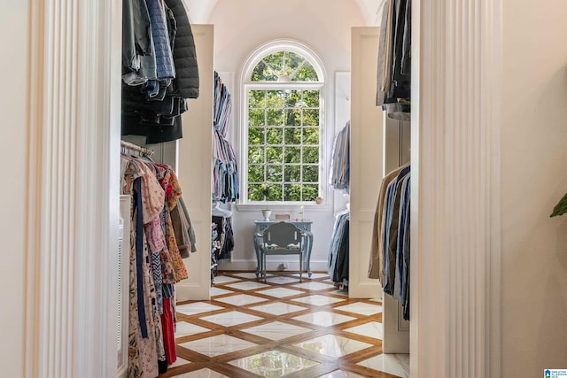
[[[503,376],[567,368],[567,3],[504,0]]]

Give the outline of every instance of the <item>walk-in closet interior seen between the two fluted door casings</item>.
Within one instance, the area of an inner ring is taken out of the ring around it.
[[[127,375],[232,376],[247,371],[315,377],[378,374],[374,371],[408,376],[409,326],[401,322],[408,320],[408,306],[398,305],[408,297],[407,274],[401,278],[408,265],[401,253],[396,259],[396,251],[380,249],[386,262],[400,266],[391,277],[397,272],[397,280],[403,281],[404,300],[400,285],[397,300],[383,295],[384,279],[371,274],[377,258],[373,247],[389,242],[378,240],[383,225],[369,221],[381,218],[386,207],[377,205],[381,178],[409,159],[408,2],[369,5],[381,15],[374,22],[383,27],[362,26],[368,19],[361,17],[359,5],[342,4],[349,17],[335,38],[350,47],[338,49],[343,50],[339,54],[324,38],[305,34],[307,18],[298,18],[291,28],[257,22],[256,27],[273,27],[276,34],[268,39],[249,35],[234,44],[240,58],[225,47],[230,23],[240,28],[225,17],[230,5],[216,6],[208,25],[199,25],[190,23],[191,4],[124,2],[120,175],[123,203],[130,204],[122,208],[122,224],[131,237],[123,235],[121,248],[131,252],[120,288],[129,285],[130,292],[129,308],[121,307],[122,329],[128,323],[128,333],[121,335],[129,342]],[[325,13],[330,19],[338,16],[338,10]],[[137,28],[140,23],[149,26],[150,35]],[[297,38],[286,38],[291,30]],[[140,46],[140,41],[146,44]],[[148,166],[147,174],[157,176],[134,180]],[[154,181],[156,190],[164,190],[161,202],[167,209],[156,212],[156,220],[142,201],[145,192],[152,192],[145,186]],[[408,218],[406,188],[401,212]],[[398,224],[398,214],[388,218],[395,220],[387,223],[388,229]],[[278,221],[299,227],[304,264],[296,266],[291,256],[270,258],[263,268],[268,277],[260,281],[260,251],[266,248],[262,233]],[[409,233],[405,236],[408,242]],[[387,258],[389,252],[393,259]],[[142,262],[153,261],[154,255],[155,264],[144,270]],[[176,261],[172,267],[183,268],[183,274],[170,272],[171,258]],[[303,265],[307,282],[293,274]],[[393,283],[388,292],[394,294]],[[307,319],[327,328],[310,328]],[[235,326],[241,338],[228,328]],[[326,329],[322,343],[351,340],[356,347],[338,346],[320,355],[305,346],[307,351],[294,354],[284,344],[283,351],[270,351],[270,343],[247,334],[266,337],[262,332],[274,327],[290,328],[278,338],[282,340],[291,337],[309,345]],[[228,343],[228,352],[238,352],[231,361],[220,357],[226,353],[223,347],[213,353],[203,350],[204,343]],[[268,350],[261,351],[261,345]],[[395,345],[391,356],[384,354],[385,345]],[[354,366],[323,367],[329,353]],[[253,367],[255,360],[268,357],[288,362]],[[296,359],[303,362],[294,365]]]

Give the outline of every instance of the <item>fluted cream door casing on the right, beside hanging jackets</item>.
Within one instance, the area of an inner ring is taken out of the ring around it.
[[[410,370],[496,378],[501,2],[414,4]]]

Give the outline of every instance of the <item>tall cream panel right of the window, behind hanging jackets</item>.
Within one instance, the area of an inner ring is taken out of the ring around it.
[[[348,295],[382,297],[378,280],[368,278],[372,228],[382,182],[383,118],[376,106],[378,27],[352,28],[351,219]]]

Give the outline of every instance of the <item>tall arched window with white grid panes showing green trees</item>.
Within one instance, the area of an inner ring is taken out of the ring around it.
[[[297,42],[260,48],[245,67],[245,203],[322,196],[322,65]],[[243,198],[244,199],[244,198]]]

